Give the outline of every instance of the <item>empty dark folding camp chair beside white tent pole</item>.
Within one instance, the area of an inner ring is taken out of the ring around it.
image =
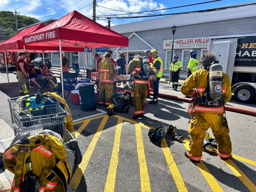
[[[71,94],[71,91],[75,89],[75,85],[77,84],[76,78],[78,77],[77,73],[72,72],[64,72],[63,73],[63,88],[64,90],[68,91],[68,95],[65,96],[64,92],[64,98],[66,99],[69,94]]]

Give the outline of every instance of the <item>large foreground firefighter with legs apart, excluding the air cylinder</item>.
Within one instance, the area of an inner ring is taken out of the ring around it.
[[[205,53],[200,59],[200,65],[203,63],[212,63],[216,60],[213,53]],[[224,117],[224,104],[231,98],[231,84],[229,76],[222,73],[223,97],[218,106],[203,105],[202,96],[207,86],[207,76],[209,70],[200,69],[190,75],[181,86],[181,92],[186,96],[194,98],[188,108],[188,113],[192,115],[188,133],[190,134],[190,149],[185,152],[185,156],[191,161],[200,162],[203,151],[203,139],[205,132],[210,127],[213,135],[218,143],[218,154],[223,160],[227,160],[232,151],[231,140],[229,137],[229,128],[227,126],[226,118]],[[196,89],[196,90],[195,90]],[[200,102],[201,101],[201,102]]]

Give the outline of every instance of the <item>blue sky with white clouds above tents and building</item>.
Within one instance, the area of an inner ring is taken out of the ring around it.
[[[127,17],[127,16],[141,16],[141,15],[154,15],[154,14],[167,14],[167,13],[180,13],[187,11],[198,11],[205,9],[212,9],[228,5],[235,5],[240,3],[253,2],[250,0],[221,0],[211,3],[204,3],[200,5],[191,5],[210,0],[194,0],[194,1],[174,1],[174,0],[96,0],[96,16],[99,16],[96,22],[106,26],[108,17]],[[93,0],[2,0],[0,4],[1,11],[17,11],[18,14],[26,15],[39,19],[40,21],[54,18],[59,19],[69,12],[76,10],[83,15],[92,18],[93,15]],[[255,2],[255,1],[254,1]],[[191,6],[187,6],[191,5]],[[173,8],[179,6],[186,6],[182,8],[160,10],[166,8]],[[256,10],[256,6],[255,6]],[[144,12],[142,14],[136,12]],[[132,14],[126,14],[126,13]],[[114,15],[124,14],[124,15]],[[120,25],[124,23],[132,23],[141,20],[153,19],[156,17],[142,17],[142,18],[124,18],[116,19],[111,18],[111,25]]]

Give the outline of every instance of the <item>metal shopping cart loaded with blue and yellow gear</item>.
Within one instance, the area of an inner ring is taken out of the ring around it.
[[[36,94],[31,94],[25,97],[8,99],[14,135],[23,132],[38,134],[45,129],[49,129],[61,135],[64,142],[74,139],[64,127],[66,113],[58,100],[48,97],[41,101],[43,105],[39,103],[36,106],[30,106],[30,102],[35,102],[30,98],[36,96]]]

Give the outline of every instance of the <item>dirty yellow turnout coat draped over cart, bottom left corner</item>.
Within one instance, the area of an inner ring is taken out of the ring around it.
[[[48,134],[23,138],[6,149],[3,155],[5,167],[14,174],[11,192],[21,191],[23,178],[32,173],[39,183],[38,191],[67,191],[72,168],[62,142]],[[29,168],[31,166],[31,168]]]

